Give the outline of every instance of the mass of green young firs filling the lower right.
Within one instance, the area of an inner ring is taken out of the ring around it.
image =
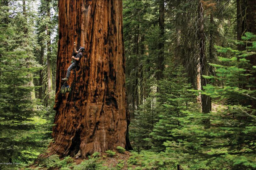
[[[215,46],[219,63],[209,63],[215,74],[203,76],[210,84],[200,91],[191,89],[181,67],[166,68],[169,76],[159,81],[159,93],[139,107],[131,124],[134,148],[149,151],[133,152],[129,163],[159,169],[256,168],[256,66],[250,60],[255,57],[254,39],[245,33],[239,42],[247,44],[245,51]],[[194,92],[212,98],[212,112],[201,113]],[[153,118],[157,115],[159,121]]]

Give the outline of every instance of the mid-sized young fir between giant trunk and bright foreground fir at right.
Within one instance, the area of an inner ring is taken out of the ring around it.
[[[186,74],[183,73],[182,66],[175,69],[167,68],[165,70],[166,79],[159,82],[159,93],[157,101],[162,105],[157,108],[159,121],[155,124],[153,132],[150,133],[153,151],[165,151],[163,143],[174,138],[170,134],[172,129],[181,129],[182,126],[179,117],[183,117],[182,110],[196,111],[199,106],[196,104],[196,98],[191,91],[191,85],[187,83]]]

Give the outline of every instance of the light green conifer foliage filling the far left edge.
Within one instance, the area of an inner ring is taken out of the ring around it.
[[[36,68],[33,60],[33,20],[29,18],[26,22],[24,10],[21,13],[13,8],[22,9],[19,2],[0,3],[0,161],[27,162],[46,146],[42,137],[47,133],[41,124],[35,124],[41,109],[35,111],[40,104],[31,99],[34,86],[29,84],[31,75],[40,68]],[[29,9],[26,15],[31,16]],[[2,164],[0,168],[14,166]]]

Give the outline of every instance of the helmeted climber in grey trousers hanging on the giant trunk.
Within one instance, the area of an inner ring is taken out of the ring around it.
[[[72,64],[68,68],[67,75],[61,80],[67,81],[69,79],[71,70],[75,69],[77,66],[79,67],[79,60],[82,58],[85,49],[84,47],[79,47],[79,50],[76,51],[76,42],[74,42],[74,50],[76,52],[76,57],[72,56]]]

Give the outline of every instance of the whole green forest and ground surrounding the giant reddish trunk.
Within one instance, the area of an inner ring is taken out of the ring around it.
[[[133,151],[80,164],[37,159],[56,114],[58,1],[0,8],[0,169],[256,168],[254,1],[123,0]]]

